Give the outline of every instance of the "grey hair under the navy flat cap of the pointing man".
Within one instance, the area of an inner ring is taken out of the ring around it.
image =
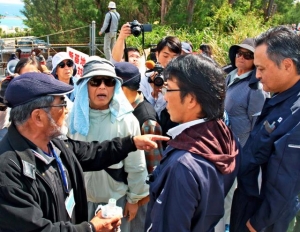
[[[10,120],[16,126],[23,125],[30,118],[32,111],[39,107],[43,107],[47,113],[50,112],[50,107],[44,108],[44,106],[50,106],[53,101],[53,96],[43,96],[23,105],[16,106],[10,111]]]

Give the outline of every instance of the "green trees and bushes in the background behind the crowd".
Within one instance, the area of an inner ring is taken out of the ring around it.
[[[109,0],[23,2],[24,23],[33,35],[43,39],[48,36],[51,44],[80,45],[88,44],[92,21],[96,22],[97,34]],[[271,18],[266,18],[266,9],[272,2],[275,4],[270,8]],[[191,42],[194,51],[201,43],[210,44],[221,65],[228,62],[227,51],[232,44],[278,23],[298,23],[300,18],[300,4],[293,4],[293,0],[119,0],[116,4],[121,25],[134,19],[153,24],[153,31],[145,33],[145,47],[156,44],[164,36],[175,35]],[[102,40],[103,37],[96,38],[97,43]],[[130,36],[126,43],[141,49],[142,36]]]

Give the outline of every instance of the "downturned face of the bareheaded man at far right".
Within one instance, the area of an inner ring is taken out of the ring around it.
[[[268,58],[265,44],[256,47],[254,64],[257,67],[256,78],[263,84],[264,91],[281,93],[289,89],[295,81],[293,74],[287,70],[284,60],[278,67]]]

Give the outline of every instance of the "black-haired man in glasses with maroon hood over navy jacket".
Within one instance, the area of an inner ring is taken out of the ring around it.
[[[225,83],[209,58],[187,54],[170,61],[162,88],[178,126],[149,177],[147,231],[213,231],[236,175],[238,146],[223,118]],[[209,89],[210,91],[207,91]]]

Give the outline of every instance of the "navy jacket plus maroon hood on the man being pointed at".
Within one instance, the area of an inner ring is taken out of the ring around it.
[[[237,146],[225,124],[215,121],[170,140],[153,172],[146,231],[213,232],[237,174]]]

